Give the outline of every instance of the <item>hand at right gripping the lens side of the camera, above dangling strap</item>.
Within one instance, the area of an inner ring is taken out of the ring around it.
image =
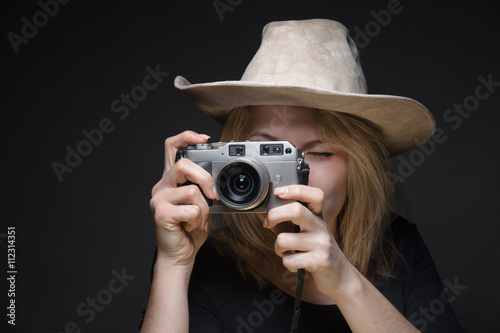
[[[284,230],[283,222],[291,221],[300,227],[300,233],[278,234],[275,251],[283,259],[283,265],[295,272],[305,268],[314,278],[314,283],[323,294],[335,300],[335,295],[349,281],[348,275],[354,267],[335,241],[322,215],[324,193],[305,185],[292,185],[275,189],[281,199],[304,202],[290,203],[269,210],[266,228]],[[281,225],[280,225],[281,224]]]

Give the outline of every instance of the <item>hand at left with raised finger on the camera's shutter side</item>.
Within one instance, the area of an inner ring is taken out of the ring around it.
[[[175,162],[179,148],[205,143],[209,136],[185,131],[165,141],[165,169],[150,201],[156,225],[158,258],[191,268],[208,235],[209,208],[205,196],[218,199],[212,176],[192,161]],[[196,185],[181,186],[187,181]]]

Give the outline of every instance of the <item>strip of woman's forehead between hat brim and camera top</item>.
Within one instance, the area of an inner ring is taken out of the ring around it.
[[[250,106],[249,134],[264,132],[276,137],[316,133],[314,109],[300,106]]]

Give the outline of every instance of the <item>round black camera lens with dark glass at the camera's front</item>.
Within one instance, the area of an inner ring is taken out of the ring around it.
[[[269,190],[269,174],[260,163],[236,159],[224,166],[217,177],[221,201],[236,210],[257,207]]]

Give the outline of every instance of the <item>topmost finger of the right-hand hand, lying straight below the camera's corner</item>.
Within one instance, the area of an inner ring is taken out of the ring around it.
[[[325,194],[317,187],[306,185],[283,186],[274,189],[274,194],[280,199],[290,199],[304,202],[313,214],[321,215]]]

